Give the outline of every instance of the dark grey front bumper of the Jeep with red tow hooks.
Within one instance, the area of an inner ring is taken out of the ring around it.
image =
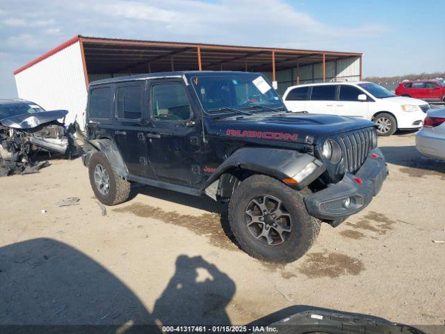
[[[387,164],[379,148],[369,152],[362,167],[346,173],[343,180],[305,197],[307,212],[338,225],[344,218],[362,211],[382,189],[388,175]]]

